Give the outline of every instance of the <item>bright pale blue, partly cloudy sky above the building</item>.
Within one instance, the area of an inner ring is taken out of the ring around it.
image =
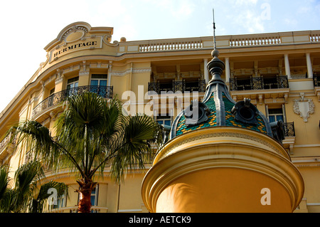
[[[112,41],[320,29],[320,0],[12,0],[1,2],[0,112],[76,21],[114,27]],[[14,70],[12,70],[14,69]]]

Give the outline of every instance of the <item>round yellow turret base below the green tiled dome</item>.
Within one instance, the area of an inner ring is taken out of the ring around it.
[[[172,139],[142,183],[150,212],[292,212],[303,193],[302,176],[281,144],[233,127]]]

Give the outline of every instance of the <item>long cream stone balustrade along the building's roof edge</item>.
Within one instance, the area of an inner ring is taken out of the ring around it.
[[[260,46],[282,46],[299,43],[319,43],[320,31],[293,31],[279,33],[245,34],[237,36],[217,36],[217,48],[241,48]],[[119,54],[146,53],[159,51],[190,51],[213,48],[213,37],[170,38],[149,41],[120,42]],[[127,47],[127,48],[126,48]]]

